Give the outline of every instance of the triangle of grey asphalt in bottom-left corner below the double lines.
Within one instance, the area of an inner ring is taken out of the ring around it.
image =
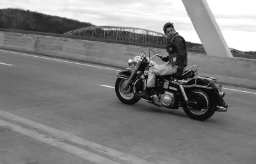
[[[0,127],[0,163],[88,164],[89,162],[56,147],[30,139],[20,133],[15,133],[10,128]]]

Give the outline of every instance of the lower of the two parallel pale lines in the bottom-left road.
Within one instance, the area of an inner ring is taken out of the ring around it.
[[[93,163],[101,163],[101,164],[115,163],[115,164],[118,164],[115,161],[109,160],[109,159],[99,156],[97,154],[90,153],[89,151],[85,151],[84,149],[80,149],[78,147],[75,147],[74,145],[70,145],[70,144],[66,144],[65,142],[61,142],[60,140],[58,140],[56,138],[37,133],[36,131],[28,130],[26,128],[23,128],[22,126],[19,126],[17,124],[13,124],[13,123],[9,123],[8,121],[4,121],[2,119],[0,119],[0,126],[8,127],[12,131],[20,133],[22,135],[26,135],[30,138],[33,138],[40,142],[43,142],[44,144],[48,144],[53,147],[58,147],[59,149],[61,149],[63,151],[67,151],[70,154],[74,154],[84,160],[87,160],[87,161],[92,161]]]

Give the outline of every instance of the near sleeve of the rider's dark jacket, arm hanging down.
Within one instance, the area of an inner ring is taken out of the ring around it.
[[[177,40],[173,42],[173,48],[175,48],[177,52],[176,63],[180,66],[182,65],[182,61],[186,60],[186,46],[184,45],[182,38],[177,38]]]

